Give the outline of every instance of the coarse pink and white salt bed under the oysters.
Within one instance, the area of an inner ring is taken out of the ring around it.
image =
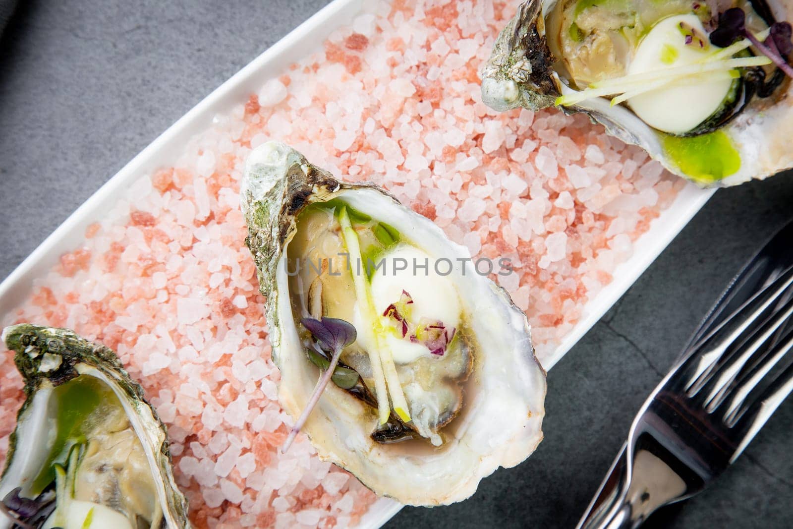
[[[237,202],[251,148],[293,144],[339,178],[392,190],[475,258],[511,259],[515,273],[497,280],[527,311],[541,361],[684,186],[584,116],[482,104],[477,72],[514,4],[366,10],[218,116],[173,167],[141,174],[3,322],[71,326],[118,351],[167,423],[198,528],[347,527],[375,500],[305,437],[278,451],[293,420]],[[0,448],[22,400],[0,355]]]

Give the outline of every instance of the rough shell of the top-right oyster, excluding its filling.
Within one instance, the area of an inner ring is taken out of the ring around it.
[[[576,0],[527,0],[518,6],[515,17],[499,34],[490,59],[481,72],[482,99],[485,104],[499,111],[519,106],[537,110],[554,105],[560,95],[576,91],[568,79],[569,72],[565,73],[565,63],[569,63],[571,58],[558,56],[564,52],[557,50],[554,54],[551,51],[552,40],[557,38],[551,32],[559,30],[552,28],[553,22],[549,17],[558,5],[571,2],[575,4]],[[665,2],[641,0],[579,0],[578,3],[585,6],[615,6],[615,9],[626,4],[635,4],[639,9],[641,6],[665,5]],[[793,19],[793,2],[790,0],[691,2],[691,9],[705,9],[706,4],[730,3],[753,10],[749,19],[753,19],[760,28],[772,21]],[[755,12],[764,13],[764,20],[760,20]],[[576,59],[585,60],[580,57]],[[790,79],[780,74],[779,71],[773,74],[777,75],[778,86],[770,96],[760,98],[756,95],[747,105],[737,104],[734,115],[726,123],[708,128],[712,134],[702,136],[670,136],[647,125],[629,106],[612,106],[607,98],[588,99],[577,105],[563,106],[561,110],[588,114],[593,121],[602,124],[611,136],[642,147],[669,171],[689,178],[700,186],[733,186],[751,178],[766,178],[793,167],[793,150],[789,148],[787,140],[793,133],[793,85]],[[772,74],[768,73],[767,77],[770,79]],[[714,148],[717,144],[718,149]],[[702,153],[708,149],[711,150],[710,155],[703,159]],[[722,167],[725,159],[731,161]]]

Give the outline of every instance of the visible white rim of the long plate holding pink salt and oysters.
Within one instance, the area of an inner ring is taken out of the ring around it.
[[[52,232],[16,270],[0,283],[0,314],[10,312],[28,297],[36,278],[44,277],[64,252],[78,247],[85,230],[102,220],[107,204],[125,195],[136,179],[150,174],[159,167],[174,163],[174,152],[182,151],[190,137],[208,127],[217,113],[230,111],[234,105],[247,101],[268,79],[277,77],[290,64],[320,49],[328,35],[348,25],[362,11],[362,0],[335,0],[297,29],[279,40],[266,52],[254,59],[231,79],[186,113],[179,121],[163,132],[140,152],[121,171],[110,178],[102,188],[72,213]],[[614,281],[604,287],[585,307],[584,317],[562,341],[545,368],[550,369],[575,343],[592,328],[597,320],[614,305],[647,266],[664,250],[667,244],[688,224],[699,211],[712,190],[700,190],[691,185],[680,192],[672,205],[653,221],[650,229],[634,243],[633,256],[617,267]],[[389,499],[380,499],[370,508],[359,527],[380,527],[401,508]]]

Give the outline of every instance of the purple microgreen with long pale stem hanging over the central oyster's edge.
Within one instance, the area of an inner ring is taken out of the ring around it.
[[[308,420],[308,416],[311,415],[316,403],[320,401],[320,397],[322,397],[325,387],[331,380],[336,366],[339,365],[339,357],[342,355],[342,350],[344,347],[353,343],[357,337],[354,326],[338,318],[322,318],[322,320],[303,318],[301,323],[308,329],[308,332],[311,332],[317,342],[320,343],[320,347],[324,344],[328,351],[333,352],[333,356],[331,356],[331,363],[328,369],[322,374],[320,380],[316,382],[314,393],[312,393],[311,398],[308,399],[308,404],[306,404],[306,407],[303,409],[301,416],[298,417],[292,431],[289,431],[289,435],[281,447],[282,454],[292,446],[295,437],[300,433],[302,427],[305,426],[305,421]]]

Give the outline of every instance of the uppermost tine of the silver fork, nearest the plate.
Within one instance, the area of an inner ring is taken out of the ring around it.
[[[718,374],[724,363],[722,358],[724,360],[727,358],[726,351],[735,351],[735,348],[731,349],[734,344],[744,343],[751,337],[754,330],[757,329],[758,321],[765,323],[772,316],[775,305],[779,303],[780,299],[787,301],[788,289],[791,285],[793,285],[793,267],[787,269],[774,282],[751,297],[740,309],[707,335],[706,339],[703,339],[701,348],[706,352],[691,358],[698,363],[694,366],[691,377],[684,385],[684,390],[688,392],[689,397],[694,397],[712,380],[715,374]]]

